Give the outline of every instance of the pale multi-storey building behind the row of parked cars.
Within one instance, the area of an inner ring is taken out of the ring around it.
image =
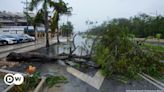
[[[31,14],[31,17],[34,14]],[[30,24],[28,24],[27,29],[27,21],[26,15],[23,13],[11,13],[11,12],[1,12],[0,11],[0,24],[2,28],[0,28],[0,34],[29,34],[31,36],[35,36],[34,28]],[[37,27],[36,36],[38,38],[45,37],[45,28],[44,26]],[[49,37],[54,37],[49,30]]]

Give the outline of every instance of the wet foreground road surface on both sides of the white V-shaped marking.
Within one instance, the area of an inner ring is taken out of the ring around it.
[[[67,72],[67,66],[62,66],[57,63],[22,63],[22,65],[20,64],[10,68],[9,70],[25,72],[29,65],[36,66],[37,71],[43,76],[63,75],[67,77],[69,81],[68,83],[60,84],[60,87],[53,86],[52,88],[45,89],[44,92],[126,92],[126,90],[159,90],[157,87],[143,79],[129,81],[127,84],[124,84],[114,78],[105,78],[100,89],[97,90],[96,88]]]

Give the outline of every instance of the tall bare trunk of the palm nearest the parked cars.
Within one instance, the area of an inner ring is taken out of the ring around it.
[[[45,18],[45,33],[46,33],[46,47],[49,47],[49,38],[48,38],[48,12],[47,12],[47,0],[45,0],[44,6],[44,18]]]

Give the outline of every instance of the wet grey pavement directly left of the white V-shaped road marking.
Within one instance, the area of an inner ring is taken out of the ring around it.
[[[62,67],[57,64],[45,64],[43,67],[41,67],[40,70],[42,71],[42,73],[64,75],[69,81],[67,84],[60,85],[60,87],[54,86],[48,89],[47,92],[99,92],[87,83],[68,73],[66,71],[66,67]]]

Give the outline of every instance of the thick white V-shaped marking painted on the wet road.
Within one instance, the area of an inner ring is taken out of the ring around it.
[[[102,76],[100,71],[98,71],[94,77],[91,77],[72,67],[67,67],[67,71],[98,90],[100,89],[105,78],[104,76]]]

